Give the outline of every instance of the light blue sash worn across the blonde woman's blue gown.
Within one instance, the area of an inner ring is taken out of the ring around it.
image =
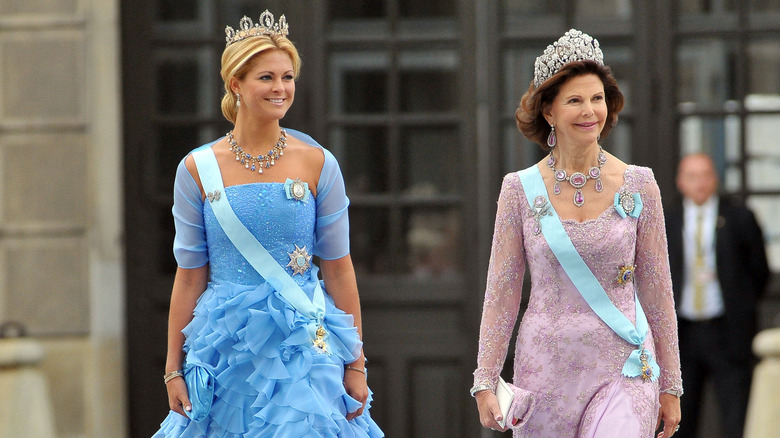
[[[252,235],[252,232],[241,223],[230,207],[214,151],[211,148],[205,148],[193,152],[192,156],[198,168],[203,190],[207,194],[206,201],[211,203],[214,216],[225,234],[241,255],[290,305],[301,314],[317,322],[316,325],[310,324],[309,327],[312,338],[314,338],[318,325],[322,324],[322,319],[325,317],[325,295],[319,281],[316,282],[312,300],[309,300],[298,283],[268,253],[268,250]]]

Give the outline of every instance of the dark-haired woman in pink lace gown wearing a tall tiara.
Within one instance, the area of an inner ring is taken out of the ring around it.
[[[501,188],[471,391],[485,427],[534,438],[646,438],[659,423],[668,438],[677,429],[682,379],[660,192],[649,168],[623,163],[598,143],[622,107],[590,36],[572,29],[537,58],[516,118],[550,155],[525,177],[508,174]],[[549,238],[551,224],[562,225],[563,239]],[[571,241],[607,304],[581,292],[581,279],[570,275],[577,271],[551,248],[561,240]],[[530,299],[501,427],[495,390],[526,267]],[[598,306],[616,308],[641,340],[628,342]]]

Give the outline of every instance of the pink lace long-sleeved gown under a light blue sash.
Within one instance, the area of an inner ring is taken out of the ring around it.
[[[517,173],[504,178],[479,337],[475,385],[495,387],[520,307],[528,266],[531,293],[515,345],[514,384],[531,391],[536,406],[515,437],[651,437],[659,392],[682,390],[677,319],[661,195],[650,169],[629,166],[620,193],[639,193],[638,219],[610,206],[598,218],[563,226],[612,302],[636,322],[638,293],[650,326],[645,348],[656,358],[656,382],[621,375],[636,349],[591,310],[553,255],[533,216]],[[618,268],[636,265],[632,282]]]

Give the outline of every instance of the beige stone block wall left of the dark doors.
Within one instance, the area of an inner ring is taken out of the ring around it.
[[[44,347],[58,437],[126,429],[118,8],[0,0],[0,321]]]

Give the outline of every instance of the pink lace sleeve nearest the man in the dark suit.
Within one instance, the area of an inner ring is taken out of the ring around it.
[[[639,301],[655,340],[661,391],[682,391],[680,348],[677,337],[669,252],[666,245],[661,192],[653,177],[641,188],[644,209],[639,217],[636,246],[636,281]]]

